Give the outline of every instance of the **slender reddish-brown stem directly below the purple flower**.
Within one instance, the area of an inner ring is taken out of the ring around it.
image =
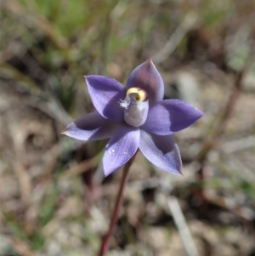
[[[130,167],[133,163],[133,159],[134,159],[135,155],[136,155],[136,153],[125,164],[125,166],[123,168],[122,180],[121,180],[121,184],[120,184],[120,187],[119,187],[119,191],[117,193],[116,202],[115,202],[115,206],[114,206],[114,211],[113,211],[113,214],[112,214],[112,217],[111,217],[111,224],[109,226],[109,230],[107,231],[105,236],[103,236],[103,238],[102,238],[101,247],[100,247],[99,254],[98,254],[99,256],[104,256],[105,253],[108,252],[109,241],[110,241],[111,235],[113,233],[113,230],[116,226],[117,219],[119,217],[119,213],[120,213],[120,210],[121,210],[121,207],[122,207],[122,202],[123,202],[123,191],[124,191],[125,185],[127,183],[129,170],[130,170]]]

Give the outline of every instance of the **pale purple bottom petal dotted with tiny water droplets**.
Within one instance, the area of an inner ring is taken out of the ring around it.
[[[137,151],[139,145],[139,128],[122,126],[116,131],[108,145],[103,157],[105,177],[122,167]]]

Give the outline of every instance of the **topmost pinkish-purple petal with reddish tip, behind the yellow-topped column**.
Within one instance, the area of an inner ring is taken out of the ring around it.
[[[164,82],[151,59],[145,61],[132,71],[127,80],[126,88],[133,87],[144,89],[149,96],[150,106],[163,100],[165,91]]]

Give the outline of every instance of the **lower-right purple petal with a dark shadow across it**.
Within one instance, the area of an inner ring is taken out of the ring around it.
[[[170,135],[159,136],[141,130],[139,149],[158,168],[173,174],[181,174],[182,161],[178,145]]]

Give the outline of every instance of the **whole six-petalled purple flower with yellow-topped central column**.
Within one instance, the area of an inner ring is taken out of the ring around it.
[[[182,100],[163,100],[164,84],[151,59],[133,70],[126,87],[109,77],[85,79],[96,111],[71,122],[62,134],[81,140],[111,138],[103,157],[105,176],[138,149],[158,168],[181,174],[181,157],[171,134],[203,114]]]

